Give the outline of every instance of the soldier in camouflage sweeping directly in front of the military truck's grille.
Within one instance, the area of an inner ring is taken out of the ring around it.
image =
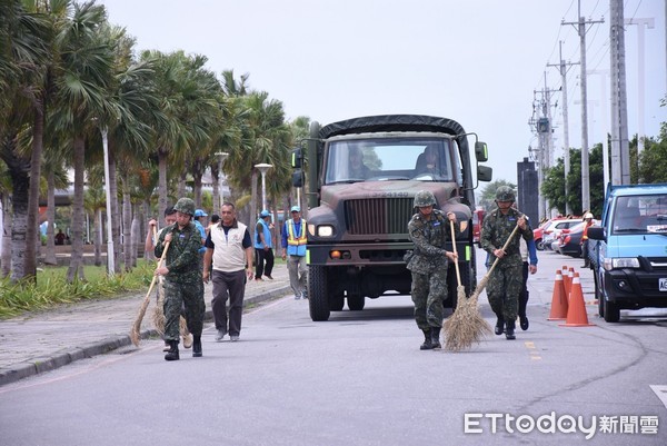
[[[408,224],[408,235],[415,244],[415,250],[408,255],[407,268],[412,272],[412,301],[415,320],[424,331],[421,350],[440,348],[442,327],[442,301],[447,298],[447,260],[457,261],[455,252],[445,250],[445,242],[451,239],[449,220],[455,222],[456,215],[447,216],[434,209],[436,197],[428,190],[415,195],[417,212]]]

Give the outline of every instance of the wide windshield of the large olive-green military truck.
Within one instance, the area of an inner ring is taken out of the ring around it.
[[[346,139],[328,145],[325,184],[455,181],[451,143],[442,138]]]

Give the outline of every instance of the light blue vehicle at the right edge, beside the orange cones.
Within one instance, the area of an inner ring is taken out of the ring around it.
[[[621,309],[667,308],[667,185],[609,185],[601,224],[588,228],[588,238],[607,323],[617,323]]]

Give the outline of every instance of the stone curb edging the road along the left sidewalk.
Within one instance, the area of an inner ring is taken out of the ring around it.
[[[243,308],[266,300],[282,297],[290,291],[291,288],[289,286],[285,286],[257,296],[245,298]],[[213,314],[210,309],[206,311],[203,320],[205,323],[210,323],[213,320]],[[156,336],[158,336],[158,331],[155,329],[141,331],[141,339],[148,339]],[[49,357],[34,358],[30,361],[18,363],[12,365],[11,367],[0,369],[0,386],[16,383],[20,379],[39,375],[44,371],[51,371],[57,368],[67,366],[68,364],[74,363],[77,360],[103,355],[109,351],[113,351],[118,348],[127,347],[131,344],[132,341],[129,335],[116,337],[111,336],[100,341],[94,341],[83,346],[57,351]]]

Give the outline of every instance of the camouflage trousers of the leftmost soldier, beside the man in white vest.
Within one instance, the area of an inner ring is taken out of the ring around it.
[[[181,308],[186,308],[186,321],[190,333],[201,336],[203,329],[203,284],[177,284],[165,280],[165,340],[179,340],[179,319]]]

